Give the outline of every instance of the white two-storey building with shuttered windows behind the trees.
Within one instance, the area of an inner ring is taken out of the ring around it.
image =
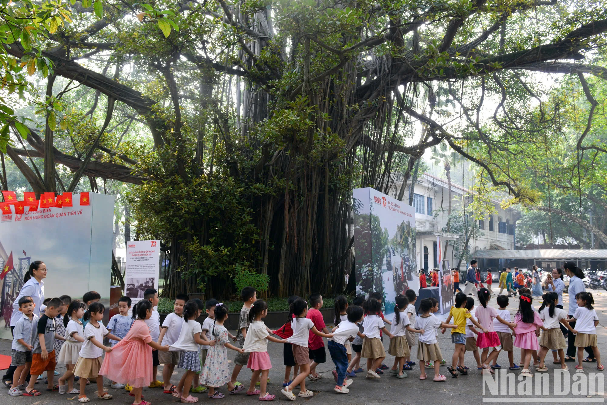
[[[399,190],[402,183],[396,183]],[[407,182],[404,201],[409,198],[411,181]],[[419,267],[432,269],[434,267],[455,267],[458,257],[453,257],[453,244],[449,243],[445,252],[446,241],[453,241],[459,237],[455,233],[443,232],[447,227],[449,189],[447,180],[424,173],[419,176],[413,189],[413,207],[415,208],[415,229],[417,239],[417,254]],[[391,192],[393,194],[393,190]],[[451,184],[452,213],[461,208],[466,201],[469,204],[474,196],[470,190],[457,184]],[[478,221],[480,235],[470,238],[468,249],[475,256],[479,250],[514,250],[515,249],[515,223],[520,218],[520,211],[514,208],[503,209],[500,202],[491,200],[495,213],[486,215]],[[438,238],[438,242],[437,242]],[[438,243],[440,247],[438,247]],[[448,261],[439,263],[439,258]],[[466,259],[460,264],[460,269],[466,269]]]

